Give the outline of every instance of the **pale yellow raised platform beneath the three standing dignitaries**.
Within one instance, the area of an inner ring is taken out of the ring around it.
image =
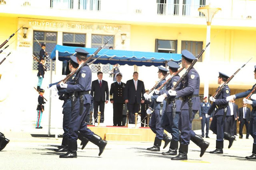
[[[95,127],[87,126],[91,131],[107,141],[152,142],[156,134],[149,127],[128,128],[118,126]]]

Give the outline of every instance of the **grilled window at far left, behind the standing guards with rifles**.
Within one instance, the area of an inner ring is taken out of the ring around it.
[[[46,57],[45,66],[50,69],[50,54],[54,47],[57,44],[57,32],[46,32],[46,31],[34,31],[33,35],[33,54],[38,57],[39,60],[39,53],[42,49],[41,46],[38,44],[36,39],[42,44],[46,44],[46,52],[48,53],[49,57]],[[38,62],[33,59],[33,70],[38,69]],[[55,71],[55,61],[52,61],[52,70]]]

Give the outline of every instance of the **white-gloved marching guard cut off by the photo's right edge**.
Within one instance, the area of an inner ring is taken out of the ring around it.
[[[254,79],[256,79],[256,66],[254,66]],[[252,89],[247,90],[246,92],[234,94],[226,98],[227,101],[230,101],[232,99],[244,98],[243,99],[244,103],[252,105],[252,112],[251,112],[250,123],[249,123],[249,132],[250,132],[250,135],[252,135],[253,137],[252,155],[246,156],[245,158],[253,159],[253,160],[256,160],[256,94],[254,92],[250,96],[251,100],[246,99],[246,96],[248,96],[252,92],[255,86],[256,84],[252,86]]]

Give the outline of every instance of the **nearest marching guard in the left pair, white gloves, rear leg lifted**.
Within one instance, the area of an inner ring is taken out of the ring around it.
[[[78,48],[76,51],[76,59],[78,64],[82,64],[86,61],[88,52],[84,49]],[[102,154],[106,147],[107,141],[102,140],[101,137],[94,134],[90,129],[87,128],[85,122],[86,115],[90,112],[90,106],[92,104],[92,96],[89,91],[91,90],[92,83],[92,72],[88,64],[85,64],[77,73],[75,84],[60,83],[57,86],[52,86],[53,90],[62,90],[66,88],[66,92],[74,92],[74,98],[72,102],[74,107],[72,108],[71,120],[69,125],[68,134],[68,152],[64,155],[60,155],[60,158],[76,158],[77,154],[77,139],[78,131],[83,137],[86,137],[90,142],[97,145],[100,149],[99,156]]]

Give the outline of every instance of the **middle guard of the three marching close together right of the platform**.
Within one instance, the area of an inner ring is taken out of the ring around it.
[[[170,75],[173,76],[180,66],[175,63],[174,61],[169,61],[169,72]],[[181,107],[181,100],[179,98],[175,98],[174,96],[170,96],[168,94],[168,90],[172,89],[180,79],[180,76],[172,77],[171,81],[166,85],[166,90],[161,90],[159,94],[166,94],[168,97],[166,98],[166,109],[161,117],[161,126],[166,130],[168,133],[172,134],[172,140],[170,143],[170,148],[167,152],[162,152],[163,155],[176,155],[178,150],[178,143],[180,140],[180,131],[178,129],[179,123],[179,114],[180,114],[180,107]],[[176,91],[182,88],[182,84],[178,84]]]

